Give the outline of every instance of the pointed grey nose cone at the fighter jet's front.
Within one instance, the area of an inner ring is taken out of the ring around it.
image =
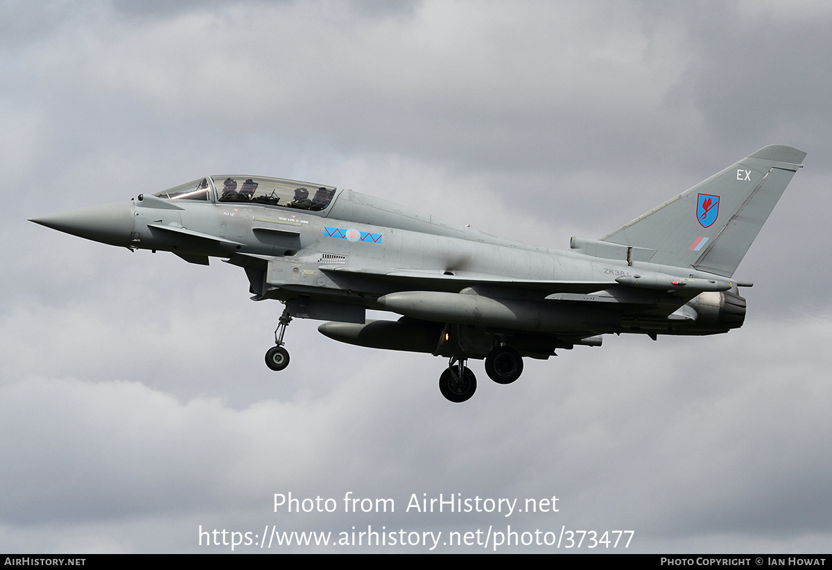
[[[60,232],[72,233],[79,238],[128,246],[135,212],[132,202],[116,202],[73,209],[61,214],[32,218],[29,221]]]

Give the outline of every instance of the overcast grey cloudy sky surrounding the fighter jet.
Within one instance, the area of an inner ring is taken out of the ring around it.
[[[0,0],[0,552],[229,549],[200,525],[830,552],[830,29],[828,2],[775,0]],[[282,307],[239,268],[26,221],[235,172],[568,248],[769,144],[809,155],[737,273],[745,327],[609,337],[512,386],[474,362],[464,405],[443,359],[318,322],[276,375]],[[344,513],[349,491],[395,513]],[[339,511],[274,513],[290,492]],[[440,493],[559,512],[405,512]]]

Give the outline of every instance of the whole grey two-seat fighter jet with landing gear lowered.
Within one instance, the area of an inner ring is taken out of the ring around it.
[[[245,269],[255,301],[285,305],[266,364],[289,364],[293,317],[340,342],[449,359],[443,396],[462,402],[485,359],[498,384],[522,357],[600,346],[631,332],[711,335],[740,327],[733,275],[805,152],[772,145],[600,239],[567,251],[448,224],[350,189],[255,176],[208,176],[116,204],[32,219],[131,250]],[[367,309],[399,320],[365,319]]]

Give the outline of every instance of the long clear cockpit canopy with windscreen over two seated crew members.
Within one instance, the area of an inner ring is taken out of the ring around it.
[[[320,211],[329,206],[333,186],[263,176],[212,176],[153,194],[172,200],[202,200],[268,204],[284,208]]]

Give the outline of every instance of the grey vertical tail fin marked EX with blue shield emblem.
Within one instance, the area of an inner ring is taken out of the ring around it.
[[[650,263],[730,277],[805,155],[766,146],[602,240],[655,249]]]

